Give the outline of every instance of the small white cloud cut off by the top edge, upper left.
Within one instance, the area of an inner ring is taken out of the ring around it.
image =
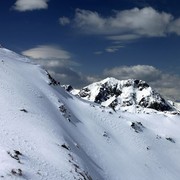
[[[47,9],[49,0],[17,0],[13,8],[17,11]]]

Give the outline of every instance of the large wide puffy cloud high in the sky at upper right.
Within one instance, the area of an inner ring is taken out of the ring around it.
[[[110,17],[102,17],[97,12],[77,9],[75,26],[84,33],[116,35],[116,38],[135,39],[139,36],[165,36],[173,16],[158,12],[151,7],[143,9],[114,11]]]

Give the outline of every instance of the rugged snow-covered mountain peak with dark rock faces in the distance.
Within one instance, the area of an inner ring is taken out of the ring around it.
[[[129,112],[175,111],[175,108],[142,80],[106,78],[72,94],[114,110]],[[174,112],[173,112],[174,113]]]

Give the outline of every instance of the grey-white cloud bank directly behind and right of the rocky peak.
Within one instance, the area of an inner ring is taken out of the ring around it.
[[[105,69],[103,77],[112,76],[120,80],[141,79],[156,89],[163,96],[180,100],[180,76],[162,72],[149,65],[120,66]]]

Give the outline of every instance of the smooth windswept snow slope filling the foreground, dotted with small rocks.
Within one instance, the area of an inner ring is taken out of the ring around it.
[[[0,49],[2,179],[180,179],[180,116],[115,112],[49,84]]]

